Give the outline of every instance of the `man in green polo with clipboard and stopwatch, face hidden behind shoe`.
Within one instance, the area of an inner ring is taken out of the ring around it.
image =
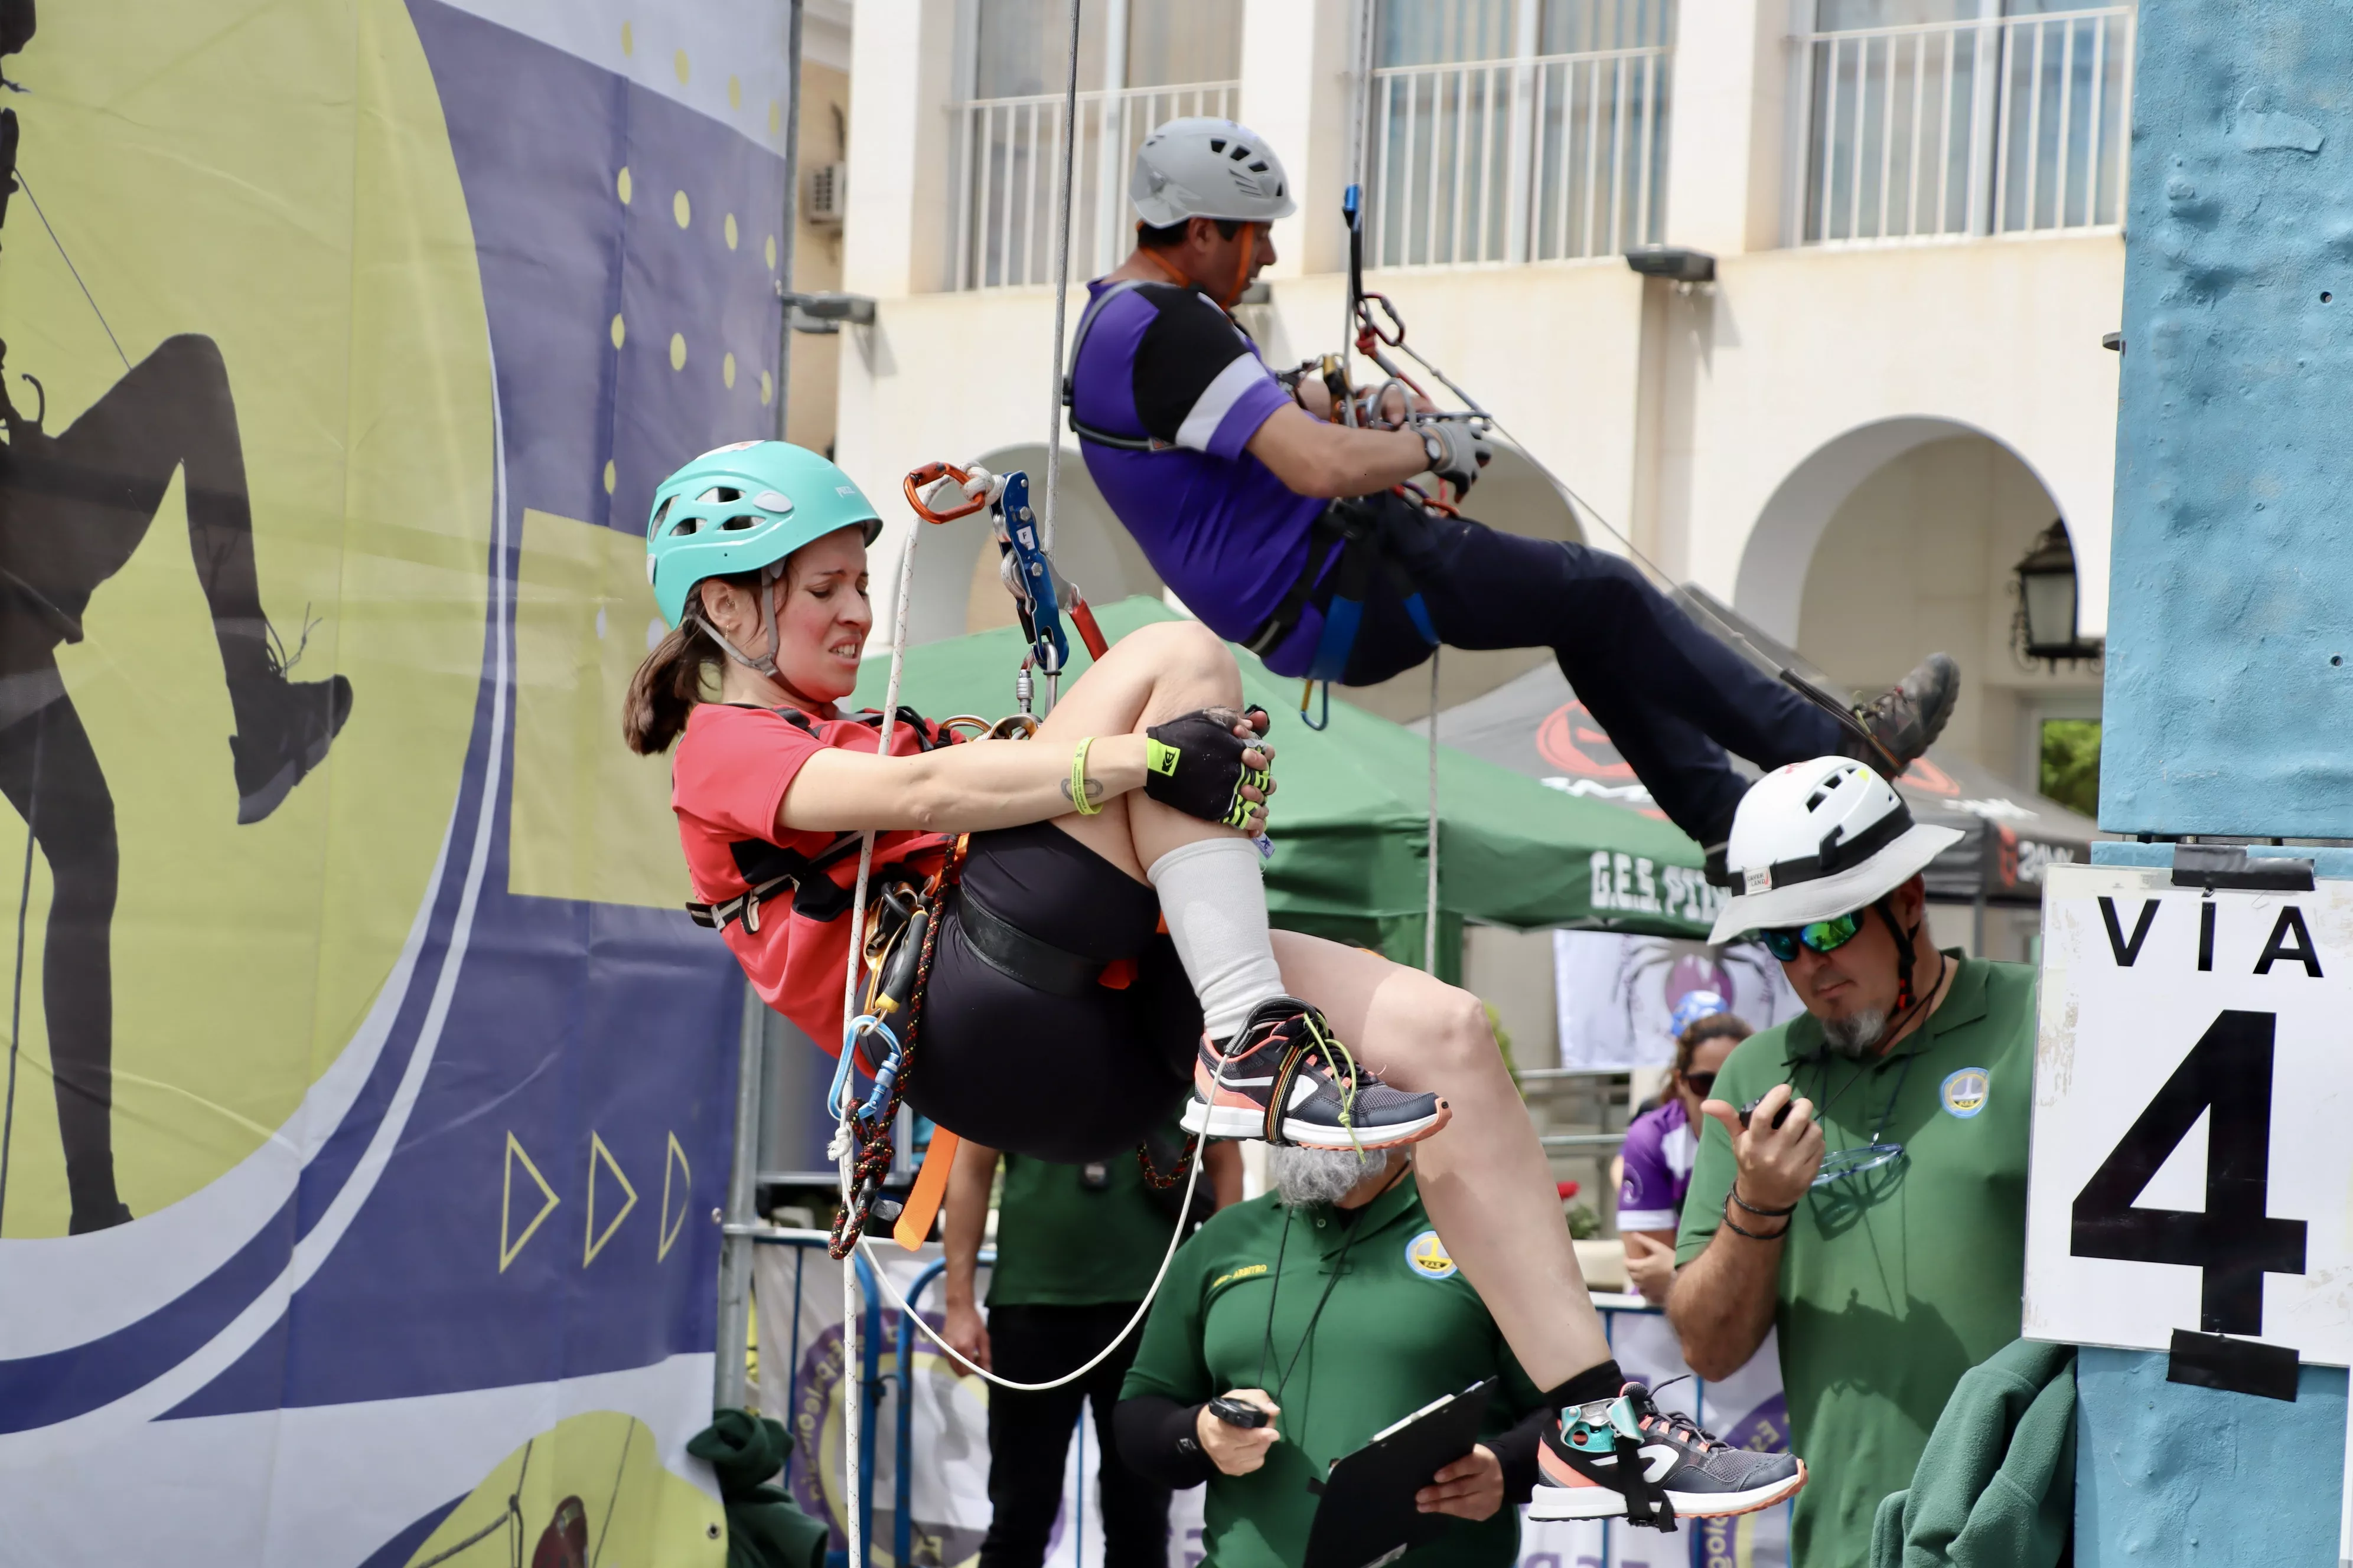
[[[1506,1505],[1527,1500],[1553,1410],[1447,1258],[1409,1152],[1275,1145],[1266,1173],[1273,1192],[1176,1253],[1113,1415],[1120,1458],[1165,1486],[1209,1486],[1207,1563],[1299,1563],[1332,1460],[1497,1378],[1485,1441],[1414,1497],[1464,1523],[1414,1561],[1506,1568],[1520,1537]],[[1214,1396],[1264,1425],[1219,1420]]]

